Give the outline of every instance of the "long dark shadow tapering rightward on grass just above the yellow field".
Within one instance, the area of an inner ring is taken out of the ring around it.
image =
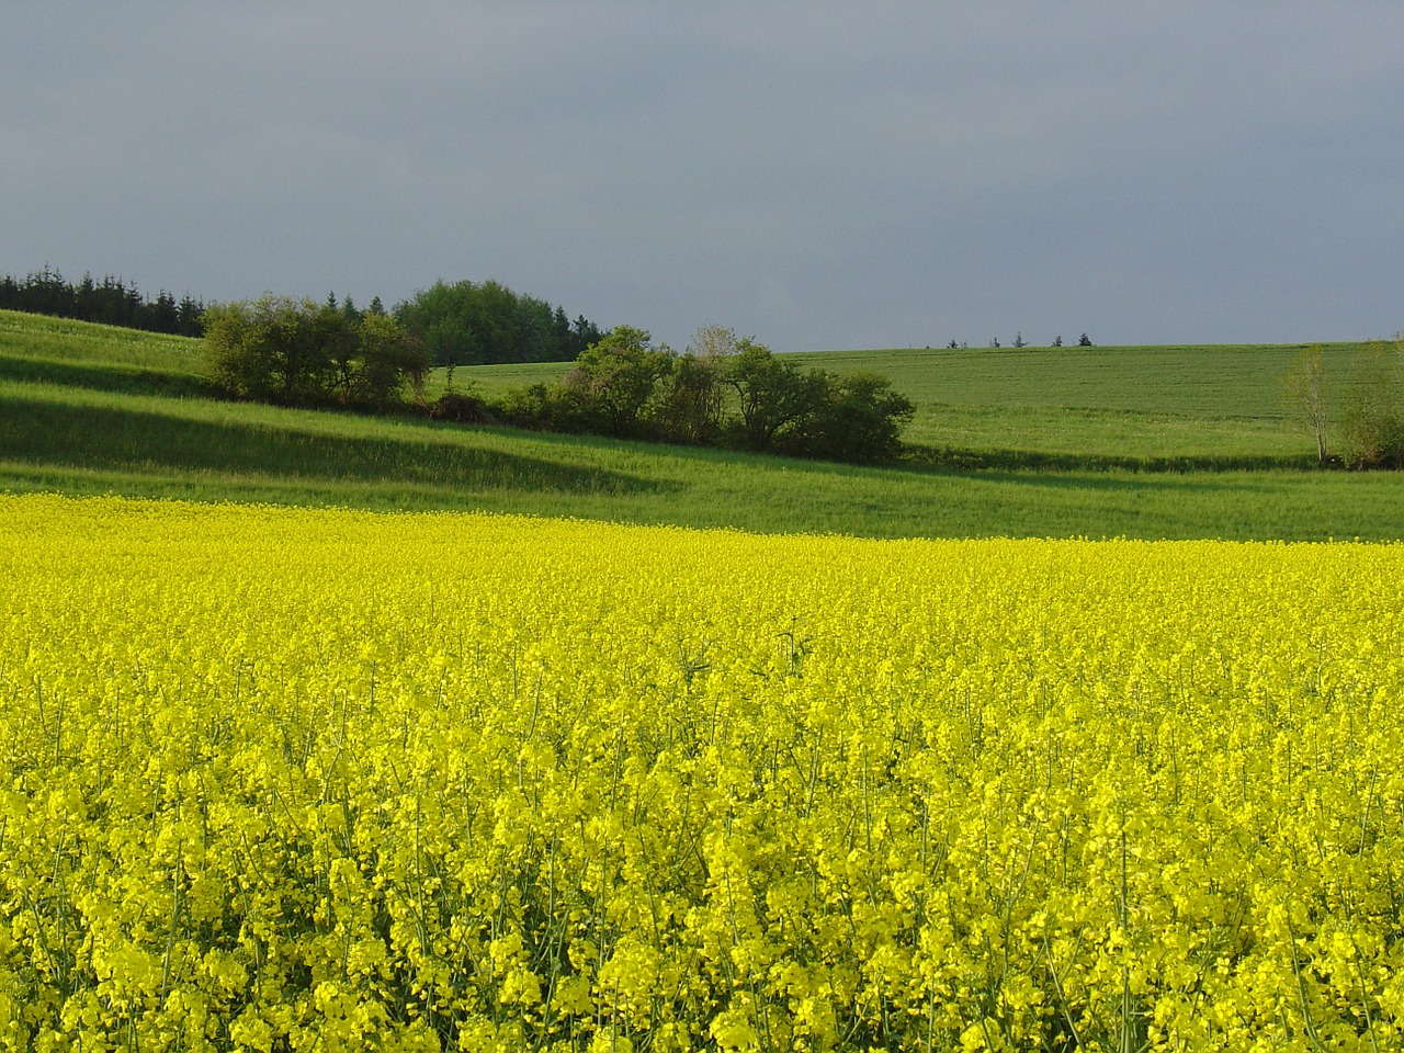
[[[344,438],[110,406],[0,397],[0,458],[97,469],[251,473],[577,494],[664,493],[674,484],[461,442]]]

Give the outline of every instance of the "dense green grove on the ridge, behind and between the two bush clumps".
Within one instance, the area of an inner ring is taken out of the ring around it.
[[[584,316],[571,326],[564,309],[496,281],[434,282],[395,316],[435,365],[569,361],[600,338]]]

